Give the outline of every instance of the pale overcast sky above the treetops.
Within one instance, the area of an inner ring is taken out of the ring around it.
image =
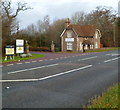
[[[22,0],[12,0],[13,4]],[[32,10],[20,12],[18,20],[20,28],[36,23],[49,15],[51,22],[55,19],[68,18],[76,11],[89,13],[97,6],[109,6],[118,11],[120,0],[24,0]]]

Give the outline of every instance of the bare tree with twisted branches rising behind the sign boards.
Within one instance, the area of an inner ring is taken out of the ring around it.
[[[17,28],[17,16],[19,12],[31,9],[27,7],[27,3],[18,2],[16,5],[15,12],[12,11],[12,2],[11,0],[5,0],[2,2],[2,33],[3,33],[3,44],[10,44],[12,32]]]

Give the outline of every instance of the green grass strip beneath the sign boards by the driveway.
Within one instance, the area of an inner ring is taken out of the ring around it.
[[[15,56],[14,60],[10,60],[8,59],[7,61],[5,61],[5,57],[2,57],[2,62],[12,62],[12,61],[21,61],[21,60],[31,60],[31,59],[36,59],[36,58],[41,58],[41,57],[45,57],[45,55],[43,54],[32,54],[32,57],[26,57],[26,58],[20,58],[19,56]]]

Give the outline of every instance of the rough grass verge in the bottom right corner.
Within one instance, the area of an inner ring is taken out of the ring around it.
[[[106,92],[102,94],[102,96],[91,100],[91,105],[88,105],[87,108],[119,108],[119,87],[120,83],[117,83],[113,87],[109,88]]]

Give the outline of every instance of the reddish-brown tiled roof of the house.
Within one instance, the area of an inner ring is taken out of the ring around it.
[[[78,36],[94,36],[95,34],[95,26],[92,25],[85,25],[85,26],[80,26],[76,24],[70,24],[67,29],[73,29]]]

